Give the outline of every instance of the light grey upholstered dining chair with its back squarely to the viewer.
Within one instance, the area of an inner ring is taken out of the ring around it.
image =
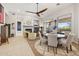
[[[49,51],[49,47],[53,47],[53,52],[57,54],[57,34],[53,34],[53,33],[49,33],[48,34],[48,51]],[[56,48],[56,49],[55,49]]]

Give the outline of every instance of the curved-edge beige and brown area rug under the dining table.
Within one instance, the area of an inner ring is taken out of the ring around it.
[[[72,51],[69,51],[69,53],[66,52],[66,49],[64,48],[57,48],[57,54],[53,52],[52,47],[50,47],[49,52],[47,50],[47,45],[42,44],[40,45],[40,40],[37,40],[34,45],[35,49],[44,56],[79,56],[79,50],[75,48],[75,46],[72,46]]]

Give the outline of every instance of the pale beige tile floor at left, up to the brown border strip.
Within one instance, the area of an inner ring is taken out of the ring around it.
[[[9,44],[0,46],[0,56],[33,56],[33,52],[24,37],[9,38]]]

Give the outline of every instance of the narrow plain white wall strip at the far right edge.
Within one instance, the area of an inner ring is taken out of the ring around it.
[[[77,36],[75,41],[79,41],[79,4],[75,4],[73,7],[74,11],[74,32]]]

